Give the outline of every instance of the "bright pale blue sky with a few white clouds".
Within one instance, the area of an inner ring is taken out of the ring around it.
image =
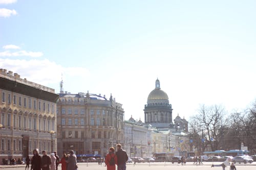
[[[155,81],[173,118],[255,102],[256,1],[0,0],[0,68],[106,95],[144,121]],[[62,75],[62,76],[61,76]]]

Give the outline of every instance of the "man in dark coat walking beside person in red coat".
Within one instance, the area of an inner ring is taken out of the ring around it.
[[[126,151],[122,150],[121,144],[117,144],[117,169],[118,170],[125,170],[126,169],[126,161],[128,160],[128,155]]]

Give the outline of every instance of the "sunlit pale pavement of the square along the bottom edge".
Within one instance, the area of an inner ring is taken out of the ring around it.
[[[215,162],[214,164],[221,164],[222,162]],[[204,165],[193,165],[193,162],[187,162],[186,165],[181,165],[171,162],[155,162],[155,163],[136,163],[135,165],[132,163],[128,163],[126,165],[127,170],[156,170],[156,169],[181,169],[181,170],[222,170],[222,167],[210,167],[212,162],[205,162]],[[78,170],[80,169],[92,169],[92,170],[106,170],[104,164],[98,165],[98,163],[78,163]],[[256,162],[249,164],[235,164],[238,170],[255,170]],[[0,169],[8,169],[8,170],[25,170],[26,165],[0,165]],[[116,168],[117,169],[117,168]],[[58,170],[61,170],[61,165],[58,166]],[[229,170],[229,167],[226,167],[226,170]]]

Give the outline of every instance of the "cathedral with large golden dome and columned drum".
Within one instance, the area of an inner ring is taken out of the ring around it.
[[[188,122],[179,115],[174,119],[173,108],[169,103],[166,92],[161,90],[160,81],[157,79],[155,89],[147,97],[144,107],[145,125],[155,127],[158,130],[169,129],[170,131],[188,131]]]

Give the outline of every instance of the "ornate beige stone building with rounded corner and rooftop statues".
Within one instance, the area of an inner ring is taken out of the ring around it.
[[[62,85],[61,85],[62,88]],[[60,91],[57,102],[58,153],[105,156],[109,147],[123,144],[123,108],[115,98]]]

